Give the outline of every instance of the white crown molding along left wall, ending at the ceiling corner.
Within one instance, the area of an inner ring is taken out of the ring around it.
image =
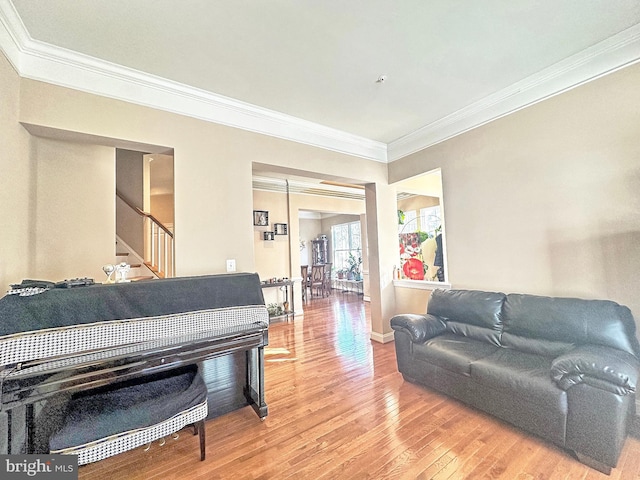
[[[31,38],[0,1],[0,48],[21,77],[386,163],[387,145]]]

